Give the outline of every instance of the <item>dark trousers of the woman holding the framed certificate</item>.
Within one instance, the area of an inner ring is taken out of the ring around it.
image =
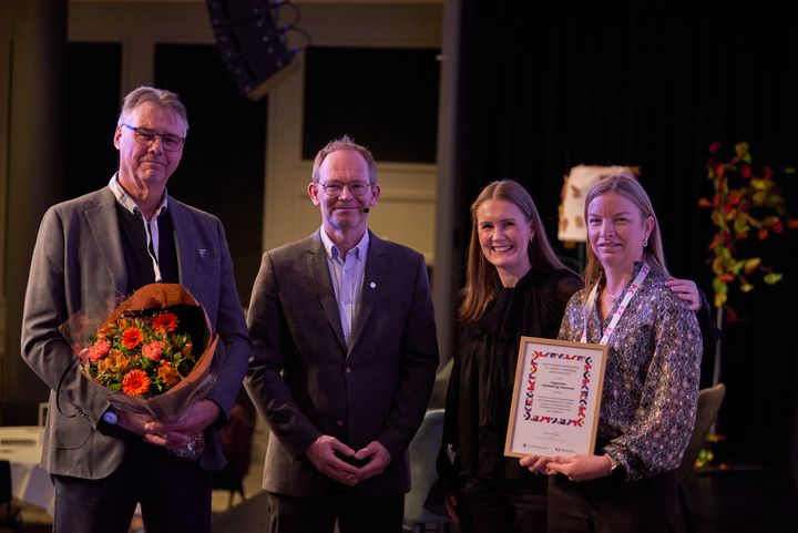
[[[676,531],[676,476],[549,483],[549,533],[671,533]]]

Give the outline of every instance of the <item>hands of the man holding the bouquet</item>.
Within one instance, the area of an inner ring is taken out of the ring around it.
[[[161,445],[174,453],[194,447],[202,453],[203,431],[219,416],[219,407],[212,400],[200,400],[176,421],[158,420],[130,411],[120,412],[119,424],[131,433],[142,435],[150,444]]]

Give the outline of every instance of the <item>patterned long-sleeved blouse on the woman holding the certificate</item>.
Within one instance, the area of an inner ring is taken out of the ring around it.
[[[642,263],[637,263],[634,276]],[[607,345],[606,371],[598,417],[596,453],[612,455],[627,481],[678,468],[695,422],[702,336],[695,314],[652,271],[632,298]],[[604,279],[598,281],[598,294]],[[587,342],[598,342],[607,319],[591,310]],[[580,341],[583,301],[590,288],[574,294],[560,327],[560,339]]]

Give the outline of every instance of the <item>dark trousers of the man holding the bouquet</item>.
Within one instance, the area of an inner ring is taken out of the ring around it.
[[[165,449],[132,441],[108,478],[53,475],[53,533],[127,533],[136,503],[147,533],[208,533],[211,472]]]

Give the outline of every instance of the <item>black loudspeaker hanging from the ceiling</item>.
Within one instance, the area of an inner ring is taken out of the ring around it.
[[[238,91],[259,100],[299,65],[279,27],[282,3],[268,0],[206,0],[211,28]]]

